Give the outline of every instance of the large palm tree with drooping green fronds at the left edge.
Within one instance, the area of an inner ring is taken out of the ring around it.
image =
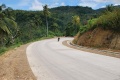
[[[11,41],[15,38],[16,34],[13,35],[13,33],[17,33],[13,30],[17,30],[17,23],[8,18],[6,14],[4,13],[5,10],[7,10],[6,6],[3,4],[0,6],[0,42],[3,45],[3,40],[5,37],[10,37]],[[18,30],[17,30],[18,31]]]

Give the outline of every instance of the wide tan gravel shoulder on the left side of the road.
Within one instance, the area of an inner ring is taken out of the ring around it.
[[[26,57],[26,48],[22,45],[0,56],[0,80],[36,80]]]

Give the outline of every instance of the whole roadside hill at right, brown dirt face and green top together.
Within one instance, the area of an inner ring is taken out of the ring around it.
[[[108,5],[98,18],[80,27],[74,39],[77,45],[120,49],[120,7]]]

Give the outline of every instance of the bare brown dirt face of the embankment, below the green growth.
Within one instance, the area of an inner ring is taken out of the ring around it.
[[[78,34],[73,42],[81,46],[120,50],[120,33],[96,28],[82,35]]]

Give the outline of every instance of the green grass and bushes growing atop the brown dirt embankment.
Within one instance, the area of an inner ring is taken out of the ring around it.
[[[110,8],[111,7],[111,8]],[[93,30],[96,27],[111,30],[113,32],[120,33],[120,9],[107,6],[104,13],[94,19],[88,20],[87,24],[80,27],[80,33],[84,33],[88,30]]]

